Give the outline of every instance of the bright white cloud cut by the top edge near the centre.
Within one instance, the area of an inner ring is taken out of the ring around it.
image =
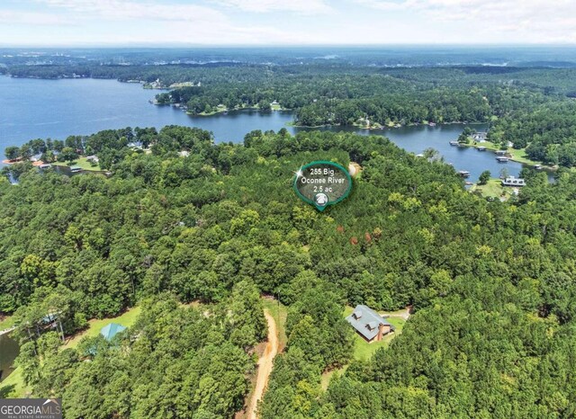
[[[324,0],[211,0],[214,4],[236,7],[247,12],[293,12],[301,14],[331,13]]]

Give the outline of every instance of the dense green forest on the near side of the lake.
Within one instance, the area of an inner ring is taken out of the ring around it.
[[[380,136],[253,131],[233,145],[172,126],[67,146],[112,156],[112,176],[20,164],[18,185],[0,182],[0,311],[21,325],[34,394],[62,396],[69,417],[231,417],[266,335],[261,293],[288,306],[264,418],[576,415],[574,174],[525,171],[517,199],[492,202]],[[291,188],[319,159],[363,167],[322,213]],[[415,310],[366,362],[342,315],[358,303]],[[27,339],[49,312],[70,334],[135,304],[112,343]],[[320,374],[344,365],[323,391]]]

